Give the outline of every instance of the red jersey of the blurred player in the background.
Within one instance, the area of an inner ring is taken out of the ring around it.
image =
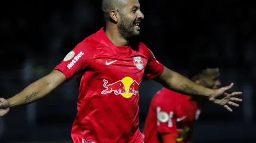
[[[145,143],[160,143],[161,133],[174,133],[177,142],[189,142],[199,105],[185,96],[162,88],[153,97],[143,130]]]

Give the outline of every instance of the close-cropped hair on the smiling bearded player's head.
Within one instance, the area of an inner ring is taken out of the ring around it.
[[[122,9],[122,6],[127,4],[128,0],[102,0],[101,9],[103,11],[104,20],[107,22],[109,21],[109,12],[111,10],[118,10]]]

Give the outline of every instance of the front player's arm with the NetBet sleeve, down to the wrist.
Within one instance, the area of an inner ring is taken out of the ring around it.
[[[31,103],[48,95],[67,79],[72,79],[77,73],[85,69],[91,63],[95,51],[96,48],[88,45],[86,40],[80,42],[50,74],[8,99],[10,107]]]

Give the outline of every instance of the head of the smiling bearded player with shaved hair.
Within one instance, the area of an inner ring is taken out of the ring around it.
[[[140,34],[139,23],[144,15],[138,0],[102,0],[106,29],[127,40]],[[107,28],[108,27],[108,28]]]

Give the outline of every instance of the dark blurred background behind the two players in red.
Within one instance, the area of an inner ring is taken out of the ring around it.
[[[9,98],[48,74],[85,37],[104,27],[101,1],[6,1],[1,4],[1,97]],[[223,85],[234,82],[243,103],[229,113],[208,103],[196,123],[193,142],[256,142],[256,5],[251,2],[140,1],[145,15],[141,41],[166,67],[187,75],[195,52],[222,61]],[[143,82],[141,129],[150,100],[161,88]],[[71,142],[76,115],[74,81],[48,97],[11,109],[0,119],[0,143]]]

